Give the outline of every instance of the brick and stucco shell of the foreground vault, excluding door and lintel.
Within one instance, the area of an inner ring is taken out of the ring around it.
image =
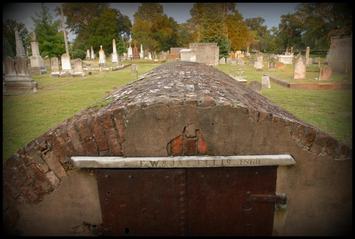
[[[352,150],[220,70],[196,62],[164,64],[103,101],[110,98],[106,106],[81,110],[38,136],[3,164],[7,234],[97,234],[104,216],[95,169],[73,167],[74,156],[292,155],[294,165],[239,167],[258,170],[235,181],[262,184],[262,168],[274,170],[271,194],[285,193],[288,207],[273,212],[272,206],[270,234],[351,230]],[[243,204],[243,213],[257,207],[250,205]],[[189,210],[193,206],[181,214]],[[189,234],[185,222],[176,223]]]

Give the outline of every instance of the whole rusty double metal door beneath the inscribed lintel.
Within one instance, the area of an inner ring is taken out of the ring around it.
[[[277,166],[96,170],[105,235],[271,235]]]

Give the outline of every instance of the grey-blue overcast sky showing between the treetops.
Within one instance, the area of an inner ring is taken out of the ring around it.
[[[184,23],[187,19],[191,18],[190,9],[193,2],[182,3],[160,3],[163,5],[163,10],[168,17],[173,17],[178,23]],[[287,13],[294,13],[295,7],[298,3],[236,3],[236,8],[245,18],[263,17],[265,19],[264,25],[268,29],[278,27],[280,23],[280,16]],[[52,13],[54,19],[61,18],[55,17],[54,9],[59,6],[59,3],[50,2],[45,3]],[[111,3],[112,8],[117,8],[124,15],[127,15],[133,24],[133,14],[138,10],[141,3]],[[33,21],[31,17],[35,17],[35,12],[41,11],[40,3],[10,3],[4,4],[2,7],[2,21],[6,19],[13,19],[17,22],[22,22],[26,25],[28,32],[31,32]],[[69,33],[68,39],[72,41],[76,36]]]

